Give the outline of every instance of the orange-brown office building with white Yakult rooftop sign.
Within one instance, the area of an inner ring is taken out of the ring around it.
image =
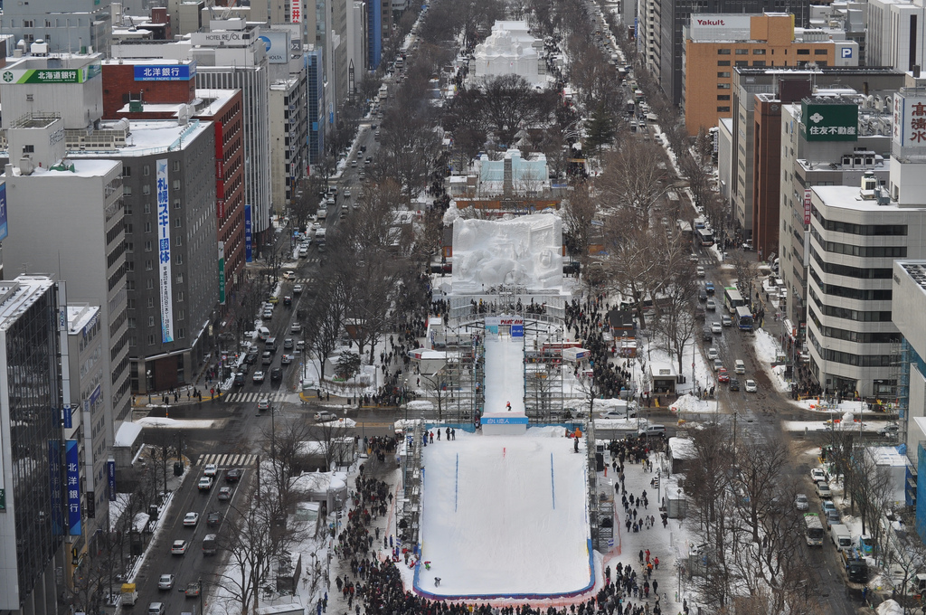
[[[692,135],[732,117],[734,68],[854,66],[858,61],[857,43],[795,30],[788,14],[698,13],[684,37],[681,105]]]

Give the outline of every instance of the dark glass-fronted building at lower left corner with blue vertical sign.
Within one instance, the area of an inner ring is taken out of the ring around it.
[[[65,537],[81,532],[80,492],[70,508],[65,460],[75,452],[60,422],[55,282],[0,282],[0,609],[55,613]],[[72,442],[72,441],[71,441]]]

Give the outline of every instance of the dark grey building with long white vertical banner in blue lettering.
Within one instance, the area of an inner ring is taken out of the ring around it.
[[[132,391],[192,383],[219,298],[215,127],[181,112],[104,121],[92,138],[69,158],[122,169]]]

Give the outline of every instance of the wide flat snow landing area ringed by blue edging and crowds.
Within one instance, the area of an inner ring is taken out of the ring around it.
[[[459,430],[424,449],[421,559],[431,570],[420,568],[420,591],[540,597],[594,583],[588,458],[563,436],[558,427],[511,437]]]

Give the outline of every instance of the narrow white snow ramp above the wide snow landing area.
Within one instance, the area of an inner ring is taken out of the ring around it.
[[[485,411],[524,414],[524,343],[521,337],[485,340]]]

